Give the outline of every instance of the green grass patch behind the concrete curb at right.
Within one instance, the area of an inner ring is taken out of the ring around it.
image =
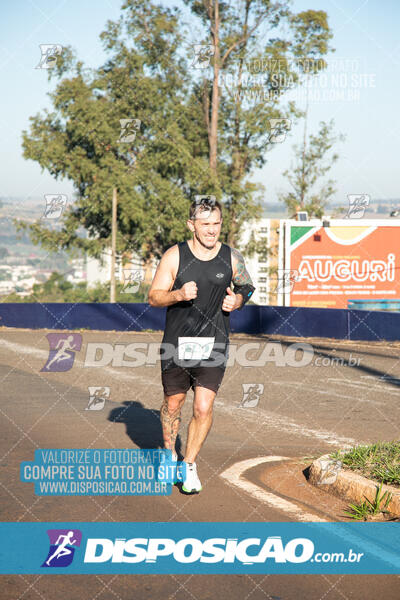
[[[379,483],[400,486],[400,441],[355,446],[331,454],[343,466]]]

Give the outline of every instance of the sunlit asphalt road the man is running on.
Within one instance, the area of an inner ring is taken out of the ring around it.
[[[159,364],[116,366],[132,360],[123,356],[128,344],[155,345],[160,333],[82,331],[72,367],[45,372],[47,333],[0,330],[2,521],[292,521],[293,515],[221,477],[240,461],[271,455],[299,466],[295,474],[282,471],[269,491],[294,499],[299,515],[306,506],[316,518],[344,520],[340,503],[302,480],[302,459],[399,438],[400,344],[232,336],[239,356],[227,368],[213,427],[198,459],[201,494],[187,496],[174,488],[167,497],[38,497],[33,484],[19,480],[20,462],[33,460],[36,448],[161,447]],[[310,344],[308,353],[295,352],[292,344],[299,342]],[[88,366],[88,344],[93,350],[94,343],[103,344],[109,364]],[[253,344],[246,356],[245,344]],[[264,359],[268,355],[264,364],[263,352]],[[250,384],[253,394],[246,395]],[[109,388],[101,410],[85,410],[89,387]],[[182,448],[191,399],[190,392]],[[263,486],[265,473],[249,471],[248,480]],[[400,577],[394,575],[4,575],[1,582],[1,598],[24,600],[400,597]]]

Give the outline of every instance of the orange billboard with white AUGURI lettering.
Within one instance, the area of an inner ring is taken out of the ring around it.
[[[285,221],[284,305],[347,308],[354,299],[400,298],[399,226],[383,219]]]

